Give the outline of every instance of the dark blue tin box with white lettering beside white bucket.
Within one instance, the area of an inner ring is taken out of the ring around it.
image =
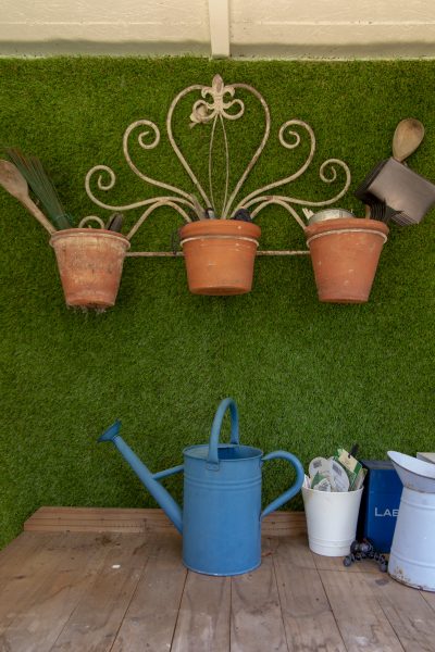
[[[389,552],[399,513],[402,484],[391,462],[361,460],[368,469],[358,522],[358,539],[369,539],[376,551]]]

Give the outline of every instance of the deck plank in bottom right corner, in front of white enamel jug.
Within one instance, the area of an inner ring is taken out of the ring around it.
[[[400,643],[408,652],[435,649],[434,612],[417,589],[399,584],[387,574],[365,576]]]

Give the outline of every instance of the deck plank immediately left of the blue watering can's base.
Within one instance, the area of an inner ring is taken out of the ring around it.
[[[170,650],[187,570],[177,532],[158,534],[111,652]]]

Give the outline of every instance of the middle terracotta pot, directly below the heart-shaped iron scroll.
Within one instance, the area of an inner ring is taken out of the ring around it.
[[[261,229],[239,220],[201,220],[181,229],[189,290],[244,294],[252,288]]]

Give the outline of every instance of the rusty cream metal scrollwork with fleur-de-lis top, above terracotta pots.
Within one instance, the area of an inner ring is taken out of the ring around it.
[[[241,118],[245,114],[245,102],[237,98],[237,91],[245,90],[248,91],[251,96],[253,96],[262,108],[263,116],[264,116],[264,127],[261,134],[260,142],[254,151],[252,158],[248,162],[247,166],[243,171],[240,177],[235,184],[232,192],[229,191],[229,146],[228,146],[228,137],[225,127],[225,121],[237,121]],[[190,127],[195,128],[197,125],[211,125],[211,134],[209,141],[209,156],[208,156],[208,188],[204,189],[198,179],[197,175],[194,173],[190,167],[188,160],[183,154],[179,145],[176,142],[174,133],[173,133],[173,117],[174,112],[179,102],[189,93],[200,93],[200,99],[197,99],[192,103],[191,113],[189,116]],[[129,211],[133,209],[144,208],[144,213],[137,220],[135,225],[132,227],[129,233],[127,234],[127,238],[132,239],[133,236],[137,233],[139,227],[144,224],[147,217],[158,208],[160,206],[169,206],[175,210],[181,217],[185,222],[190,222],[191,218],[203,218],[204,211],[208,206],[215,206],[215,192],[213,188],[213,146],[216,137],[216,129],[222,129],[223,143],[224,143],[224,154],[225,154],[225,187],[223,189],[223,202],[220,210],[216,211],[219,216],[223,220],[226,220],[235,214],[239,209],[249,210],[252,218],[257,217],[257,215],[264,208],[270,205],[279,205],[284,208],[289,215],[299,224],[301,228],[304,228],[306,222],[304,216],[309,213],[308,206],[318,208],[331,205],[337,202],[347,192],[350,186],[350,171],[344,161],[339,159],[328,159],[322,163],[319,170],[319,177],[324,184],[334,184],[338,179],[338,171],[341,172],[341,176],[344,176],[344,185],[341,189],[331,197],[330,199],[325,199],[323,201],[313,201],[309,199],[301,199],[297,197],[288,197],[281,193],[275,193],[277,188],[282,188],[283,186],[287,186],[291,184],[296,179],[298,179],[311,165],[312,160],[315,153],[315,136],[306,122],[300,120],[289,120],[285,122],[279,130],[278,130],[278,141],[282,147],[285,149],[293,151],[296,150],[302,142],[301,133],[308,135],[309,138],[309,152],[303,161],[303,163],[299,166],[299,168],[289,174],[286,177],[283,177],[278,180],[272,181],[257,190],[249,192],[247,196],[241,197],[243,186],[248,178],[251,170],[257,164],[259,158],[261,156],[264,147],[269,140],[271,133],[271,115],[269,111],[269,106],[261,96],[261,93],[254,89],[252,86],[247,84],[232,84],[225,85],[222,77],[220,75],[215,75],[211,86],[202,86],[202,85],[192,85],[181,92],[173,99],[167,116],[166,116],[166,134],[171,147],[176,154],[178,161],[187,172],[188,176],[194,184],[194,192],[188,192],[183,190],[182,188],[177,188],[176,186],[172,186],[162,180],[158,180],[141,172],[137,165],[134,163],[130,151],[129,143],[133,137],[137,138],[137,143],[142,150],[152,150],[157,148],[160,143],[160,130],[159,127],[149,120],[138,120],[132,123],[124,133],[123,136],[123,152],[127,165],[134,172],[134,174],[144,180],[146,184],[154,186],[157,188],[163,189],[167,192],[167,195],[154,197],[151,199],[139,200],[125,205],[113,205],[107,203],[99,199],[91,189],[91,186],[96,187],[98,191],[108,192],[112,190],[112,188],[116,184],[116,175],[107,165],[96,165],[86,175],[85,179],[85,188],[88,197],[91,199],[94,203],[99,205],[102,209],[108,210],[116,210],[116,211]],[[221,163],[222,164],[222,163]],[[198,199],[199,197],[199,199]],[[306,208],[302,208],[306,206]],[[298,209],[301,210],[301,214],[299,214]],[[302,216],[303,215],[303,216]],[[259,254],[269,254],[269,255],[284,255],[284,254],[298,254],[298,253],[308,253],[307,251],[260,251]],[[166,252],[132,252],[128,255],[165,255]],[[167,252],[167,255],[173,255]]]

